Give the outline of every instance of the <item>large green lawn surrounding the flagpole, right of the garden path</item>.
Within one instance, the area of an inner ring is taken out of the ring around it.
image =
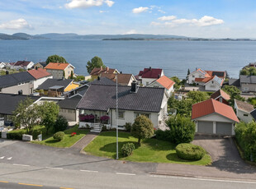
[[[174,163],[174,164],[211,164],[211,156],[206,154],[201,160],[188,161],[179,159],[175,151],[175,146],[168,141],[159,141],[157,139],[147,139],[143,141],[140,147],[136,144],[137,139],[130,136],[129,133],[120,132],[118,137],[119,157],[121,157],[121,146],[126,142],[134,142],[135,150],[132,155],[126,158],[120,158],[135,162],[154,162],[154,163]],[[116,158],[116,132],[102,132],[85,149],[88,154]]]

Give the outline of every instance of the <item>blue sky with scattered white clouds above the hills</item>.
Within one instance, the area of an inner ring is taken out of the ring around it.
[[[256,38],[255,0],[1,0],[0,33]]]

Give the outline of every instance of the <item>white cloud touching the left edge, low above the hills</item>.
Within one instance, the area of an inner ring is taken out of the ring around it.
[[[0,24],[0,29],[2,30],[21,30],[21,29],[27,29],[27,30],[31,30],[33,29],[33,27],[28,24],[28,22],[23,19],[17,19],[17,20],[12,20],[12,21],[8,21],[5,23]]]

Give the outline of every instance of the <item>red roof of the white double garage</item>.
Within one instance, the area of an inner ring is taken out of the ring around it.
[[[201,118],[211,113],[218,113],[225,118],[239,122],[231,106],[220,103],[215,99],[207,99],[206,101],[192,105],[192,119]]]

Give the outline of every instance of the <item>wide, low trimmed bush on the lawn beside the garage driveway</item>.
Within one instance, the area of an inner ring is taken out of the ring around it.
[[[187,160],[200,160],[206,154],[201,146],[189,143],[179,144],[175,150],[179,158]]]

